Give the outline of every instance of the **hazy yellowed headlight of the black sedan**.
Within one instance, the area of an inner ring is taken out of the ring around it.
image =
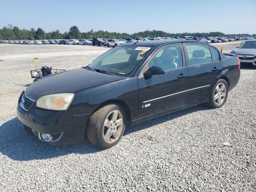
[[[74,93],[59,93],[42,96],[36,101],[36,106],[48,110],[67,110],[74,95]]]

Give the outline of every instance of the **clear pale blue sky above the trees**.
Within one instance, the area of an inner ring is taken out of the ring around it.
[[[256,0],[0,0],[0,28],[256,34]]]

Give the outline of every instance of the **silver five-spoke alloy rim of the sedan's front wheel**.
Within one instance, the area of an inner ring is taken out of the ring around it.
[[[104,121],[103,138],[108,144],[114,143],[120,137],[124,127],[124,118],[120,110],[110,112]]]

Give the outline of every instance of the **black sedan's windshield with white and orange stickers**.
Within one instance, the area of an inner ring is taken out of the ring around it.
[[[98,57],[89,67],[119,76],[130,76],[151,50],[150,46],[117,46]]]

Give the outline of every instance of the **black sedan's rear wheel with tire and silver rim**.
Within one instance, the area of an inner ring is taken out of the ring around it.
[[[220,108],[225,104],[227,98],[228,98],[228,83],[224,79],[220,79],[215,84],[211,92],[208,106],[212,108]]]

